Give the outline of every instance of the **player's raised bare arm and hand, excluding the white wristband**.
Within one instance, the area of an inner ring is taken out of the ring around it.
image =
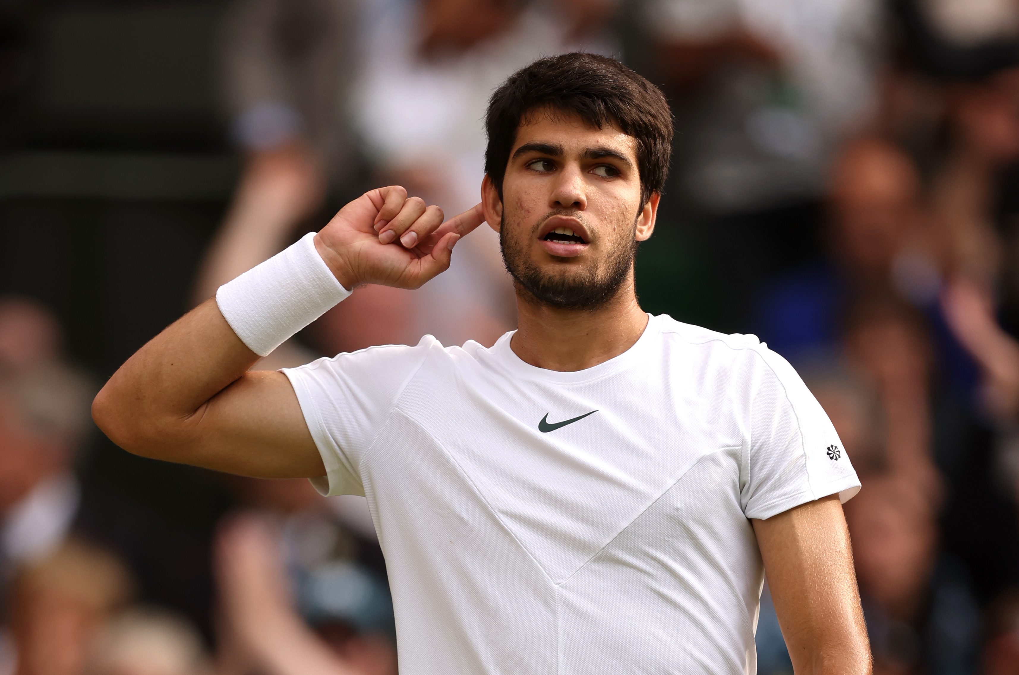
[[[417,288],[449,266],[452,244],[481,222],[475,208],[443,224],[437,207],[385,187],[343,207],[315,247],[346,288]],[[416,240],[400,244],[410,232]],[[120,367],[93,417],[117,445],[146,457],[257,477],[324,475],[289,381],[249,372],[258,358],[207,300]]]

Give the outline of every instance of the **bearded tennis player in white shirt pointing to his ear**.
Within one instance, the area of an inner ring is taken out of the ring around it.
[[[859,483],[823,410],[756,338],[637,303],[661,94],[568,54],[514,74],[486,123],[478,207],[442,224],[403,188],[364,194],[131,356],[97,424],[141,455],[365,495],[404,675],[753,673],[765,570],[798,674],[869,672],[840,505]],[[425,283],[483,221],[520,315],[494,347],[248,371],[360,284]]]

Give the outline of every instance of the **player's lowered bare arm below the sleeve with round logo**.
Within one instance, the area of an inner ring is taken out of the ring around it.
[[[870,644],[838,496],[752,522],[796,675],[869,674]]]

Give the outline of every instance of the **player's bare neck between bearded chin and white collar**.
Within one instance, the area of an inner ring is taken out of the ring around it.
[[[509,347],[521,360],[549,371],[583,371],[619,356],[640,339],[647,315],[637,303],[633,273],[605,304],[564,310],[517,286],[517,333]]]

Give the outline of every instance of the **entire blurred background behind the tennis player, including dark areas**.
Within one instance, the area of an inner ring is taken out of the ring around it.
[[[472,206],[492,89],[577,49],[676,116],[641,303],[789,358],[864,482],[875,671],[1019,673],[1017,0],[0,0],[0,675],[395,672],[363,500],[128,455],[88,407],[365,189]],[[261,368],[515,321],[481,228]],[[766,587],[757,643],[792,672]]]

